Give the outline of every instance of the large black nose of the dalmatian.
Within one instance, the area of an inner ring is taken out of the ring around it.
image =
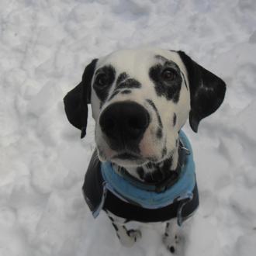
[[[103,110],[99,125],[109,139],[123,145],[140,140],[149,119],[147,110],[137,102],[115,102]]]

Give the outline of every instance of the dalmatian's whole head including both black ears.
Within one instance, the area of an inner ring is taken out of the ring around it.
[[[64,98],[67,119],[85,136],[88,103],[101,161],[161,162],[178,150],[178,132],[223,102],[225,83],[182,51],[118,50],[93,60]]]

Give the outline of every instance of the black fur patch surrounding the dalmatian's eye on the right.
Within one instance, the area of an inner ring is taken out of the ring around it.
[[[175,72],[175,79],[173,81],[165,81],[162,78],[161,74],[166,68],[171,68]],[[150,67],[149,77],[154,82],[154,88],[158,96],[164,96],[175,103],[178,102],[182,77],[178,66],[174,62],[167,61],[165,64],[156,64]]]

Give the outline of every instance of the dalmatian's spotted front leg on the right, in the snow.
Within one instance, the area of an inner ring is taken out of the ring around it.
[[[181,227],[178,227],[176,219],[170,220],[166,223],[163,242],[171,254],[178,254],[178,244],[181,239],[180,229]]]

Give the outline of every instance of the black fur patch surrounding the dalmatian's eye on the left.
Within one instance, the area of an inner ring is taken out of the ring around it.
[[[99,82],[99,79],[97,79],[97,76],[99,75],[105,75],[104,85],[102,85]],[[109,94],[109,88],[112,85],[113,81],[115,81],[115,76],[116,76],[116,70],[114,67],[112,67],[112,65],[101,67],[99,68],[98,71],[96,71],[93,88],[95,89],[96,95],[99,97],[99,99],[102,102],[106,101]]]

